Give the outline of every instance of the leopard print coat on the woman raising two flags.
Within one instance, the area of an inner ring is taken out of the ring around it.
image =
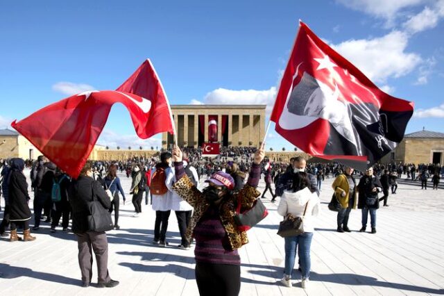
[[[191,242],[191,236],[196,227],[197,222],[203,216],[210,203],[207,202],[203,193],[196,188],[196,186],[189,181],[188,176],[184,175],[174,185],[173,190],[176,190],[178,195],[185,199],[191,206],[194,207],[194,214],[191,217],[187,229],[187,240]],[[253,206],[255,199],[259,197],[260,192],[256,188],[249,186],[248,183],[236,195],[232,195],[230,199],[223,202],[221,205],[221,222],[225,232],[228,235],[231,250],[239,249],[242,245],[248,243],[246,231],[239,231],[234,222],[234,215],[236,213],[237,199],[241,199],[241,211],[246,211]]]

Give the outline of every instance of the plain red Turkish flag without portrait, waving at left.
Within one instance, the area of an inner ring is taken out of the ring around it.
[[[140,138],[173,133],[169,102],[146,60],[116,91],[89,91],[62,99],[11,126],[70,176],[77,178],[108,120],[114,103],[130,112]]]

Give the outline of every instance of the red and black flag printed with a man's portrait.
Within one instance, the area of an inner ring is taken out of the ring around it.
[[[271,113],[275,130],[313,156],[365,170],[395,149],[413,103],[379,90],[300,22]]]

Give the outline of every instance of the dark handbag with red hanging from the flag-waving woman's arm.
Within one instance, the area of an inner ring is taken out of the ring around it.
[[[237,209],[234,215],[234,222],[237,224],[237,229],[239,231],[247,231],[257,223],[264,220],[264,218],[268,215],[268,210],[264,204],[262,204],[261,199],[256,199],[252,208],[241,213],[240,198],[241,197],[239,196],[237,199]]]

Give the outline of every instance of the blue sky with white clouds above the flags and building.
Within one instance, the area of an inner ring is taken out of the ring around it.
[[[151,58],[171,104],[267,104],[298,19],[380,88],[415,102],[407,133],[444,132],[444,1],[1,1],[0,127],[84,90],[114,90]],[[268,122],[268,120],[267,120]],[[140,140],[112,108],[99,143]],[[274,132],[267,149],[293,149]]]

